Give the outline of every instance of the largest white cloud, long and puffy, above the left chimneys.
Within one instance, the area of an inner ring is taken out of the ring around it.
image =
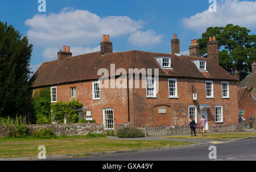
[[[81,46],[101,41],[103,34],[112,37],[131,34],[142,28],[143,21],[128,16],[100,16],[85,10],[63,8],[50,15],[35,15],[25,24],[31,27],[27,36],[40,46]]]

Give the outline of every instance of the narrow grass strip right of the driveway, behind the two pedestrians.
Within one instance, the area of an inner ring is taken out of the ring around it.
[[[205,134],[205,136],[201,136],[198,134],[197,136],[191,137],[189,136],[168,136],[164,138],[168,139],[239,139],[243,137],[256,136],[256,132],[230,132],[230,133],[221,133],[221,134]]]

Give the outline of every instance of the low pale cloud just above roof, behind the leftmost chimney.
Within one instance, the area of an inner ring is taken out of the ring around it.
[[[95,48],[83,48],[82,46],[79,47],[71,47],[70,51],[72,52],[72,56],[76,56],[76,55],[81,55],[81,54],[86,54],[86,53],[93,53],[96,51],[100,51],[101,47],[96,46]],[[43,58],[47,59],[47,60],[54,60],[57,59],[57,52],[59,51],[59,49],[57,48],[46,48],[43,51]]]

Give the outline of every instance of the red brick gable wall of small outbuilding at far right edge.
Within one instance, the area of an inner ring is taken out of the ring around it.
[[[245,92],[238,103],[238,110],[245,110],[244,118],[251,118],[252,116],[256,117],[256,105],[247,89],[245,89]]]

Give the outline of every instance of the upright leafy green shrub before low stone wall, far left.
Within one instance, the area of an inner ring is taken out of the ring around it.
[[[28,130],[27,130],[27,123],[26,123],[26,117],[22,116],[17,116],[14,122],[14,134],[13,136],[16,138],[23,138],[28,135]]]

